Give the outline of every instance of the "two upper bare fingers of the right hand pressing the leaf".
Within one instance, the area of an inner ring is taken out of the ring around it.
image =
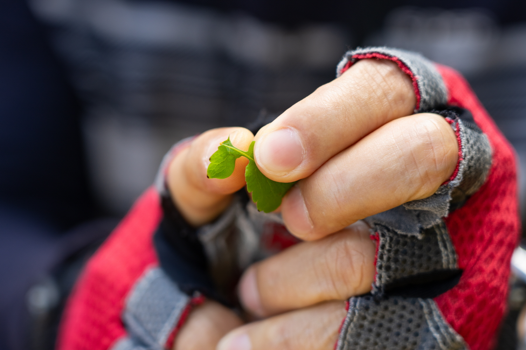
[[[257,133],[261,172],[300,180],[281,204],[292,234],[318,239],[436,192],[456,167],[458,142],[442,116],[411,115],[415,103],[396,63],[365,59]]]

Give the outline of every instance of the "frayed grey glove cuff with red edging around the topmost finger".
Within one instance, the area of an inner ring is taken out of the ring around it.
[[[437,69],[427,58],[415,52],[389,47],[366,47],[350,50],[343,55],[336,68],[339,77],[353,63],[364,58],[389,59],[398,63],[400,69],[408,73],[413,80],[414,92],[417,96],[415,112],[425,111],[445,105],[447,90]]]

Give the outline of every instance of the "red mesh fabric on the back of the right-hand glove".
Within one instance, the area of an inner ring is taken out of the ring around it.
[[[448,103],[471,112],[493,154],[487,181],[445,219],[463,273],[456,287],[434,300],[471,350],[488,350],[505,310],[510,259],[519,238],[515,157],[466,80],[449,67],[437,68]]]

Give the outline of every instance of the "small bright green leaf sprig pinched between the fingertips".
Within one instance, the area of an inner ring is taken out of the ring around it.
[[[257,204],[258,210],[270,213],[280,206],[281,199],[296,182],[276,182],[263,175],[254,161],[254,144],[255,142],[252,141],[247,152],[241,151],[232,145],[228,137],[210,157],[207,175],[209,178],[227,178],[234,172],[236,159],[241,156],[246,157],[248,159],[245,168],[247,190],[252,193],[252,200]]]

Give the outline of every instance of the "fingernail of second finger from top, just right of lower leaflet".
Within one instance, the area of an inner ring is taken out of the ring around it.
[[[281,204],[281,215],[290,233],[302,238],[308,238],[314,228],[301,189],[292,187]]]

